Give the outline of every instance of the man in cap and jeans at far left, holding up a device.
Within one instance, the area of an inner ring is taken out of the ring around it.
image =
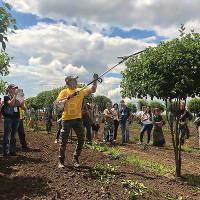
[[[4,136],[3,136],[3,157],[7,155],[16,156],[16,132],[20,121],[19,107],[24,108],[23,102],[20,103],[16,98],[18,94],[18,87],[10,84],[4,96],[4,106],[2,114],[4,116]],[[10,137],[9,137],[10,136]],[[9,142],[9,153],[7,154],[7,143]]]

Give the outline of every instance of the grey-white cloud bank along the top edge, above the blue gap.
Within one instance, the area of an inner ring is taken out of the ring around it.
[[[92,31],[117,26],[155,30],[159,35],[173,37],[178,34],[180,24],[196,20],[200,23],[200,0],[7,0],[21,12],[33,13],[39,17],[66,20]],[[192,24],[192,23],[190,23]]]

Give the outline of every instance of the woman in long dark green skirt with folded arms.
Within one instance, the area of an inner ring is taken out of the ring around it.
[[[164,121],[160,113],[159,108],[155,108],[153,111],[153,146],[163,147],[165,144],[165,137],[162,131]]]

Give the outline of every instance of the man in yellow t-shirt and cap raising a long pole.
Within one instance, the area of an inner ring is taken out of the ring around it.
[[[77,78],[78,76],[66,77],[65,82],[68,85],[68,88],[62,90],[57,98],[57,101],[61,101],[66,99],[67,97],[71,97],[71,99],[65,103],[64,111],[62,113],[62,130],[58,165],[59,168],[64,168],[65,150],[71,128],[73,128],[78,138],[76,151],[73,156],[73,162],[75,167],[80,166],[78,157],[81,154],[84,144],[84,129],[81,120],[82,103],[84,97],[90,93],[95,93],[97,88],[97,82],[95,81],[93,82],[91,88],[83,89],[79,92],[78,95],[72,97],[72,94],[81,89],[77,88]],[[98,76],[94,74],[93,78],[97,79]]]

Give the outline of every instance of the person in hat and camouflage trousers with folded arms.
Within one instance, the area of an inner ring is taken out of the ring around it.
[[[112,103],[106,104],[106,109],[104,110],[104,132],[103,132],[103,142],[114,142],[114,112],[112,110]]]

